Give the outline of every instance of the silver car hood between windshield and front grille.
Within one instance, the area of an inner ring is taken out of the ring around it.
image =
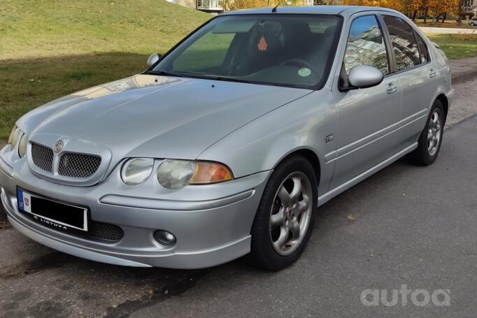
[[[52,101],[22,117],[31,140],[82,140],[124,157],[195,159],[238,127],[311,91],[135,75]],[[52,147],[52,145],[51,145]]]

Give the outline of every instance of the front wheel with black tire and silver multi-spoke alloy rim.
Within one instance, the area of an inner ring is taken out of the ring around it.
[[[317,208],[313,166],[301,156],[282,161],[269,178],[252,224],[252,263],[272,271],[294,263],[311,236]]]

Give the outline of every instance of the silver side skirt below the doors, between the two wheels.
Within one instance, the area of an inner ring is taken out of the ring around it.
[[[397,152],[397,154],[394,154],[391,157],[387,158],[385,161],[381,162],[380,164],[373,166],[373,168],[370,168],[369,170],[364,171],[364,173],[357,175],[355,178],[346,181],[342,185],[339,185],[338,187],[327,191],[327,193],[322,194],[321,196],[318,197],[318,206],[327,203],[329,200],[331,200],[338,194],[341,194],[342,192],[350,189],[350,187],[357,185],[359,182],[362,182],[362,180],[368,178],[374,173],[377,173],[378,171],[385,168],[386,166],[389,166],[397,159],[404,157],[409,152],[412,152],[413,150],[415,150],[417,147],[418,147],[418,143],[413,143],[412,145],[404,148],[404,150],[401,150],[400,152]]]

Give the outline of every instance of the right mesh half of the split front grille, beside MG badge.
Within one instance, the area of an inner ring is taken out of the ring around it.
[[[59,159],[58,173],[71,178],[88,178],[101,164],[101,157],[67,153]]]

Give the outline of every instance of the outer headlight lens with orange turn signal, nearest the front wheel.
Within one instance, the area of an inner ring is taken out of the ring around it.
[[[229,168],[217,162],[167,159],[157,168],[157,181],[167,189],[180,189],[186,185],[208,185],[232,178]]]

